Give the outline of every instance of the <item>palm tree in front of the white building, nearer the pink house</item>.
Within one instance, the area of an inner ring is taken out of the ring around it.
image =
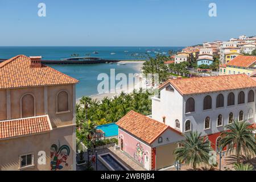
[[[209,163],[209,152],[212,151],[209,140],[204,140],[197,131],[185,135],[185,140],[180,142],[181,147],[176,148],[174,151],[175,159],[184,161],[187,165],[192,165],[193,169],[200,164]]]

